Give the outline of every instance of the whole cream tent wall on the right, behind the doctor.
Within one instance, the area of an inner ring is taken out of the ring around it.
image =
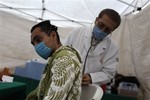
[[[112,40],[119,47],[118,73],[136,76],[141,84],[139,100],[150,100],[150,5],[136,15],[125,16]]]

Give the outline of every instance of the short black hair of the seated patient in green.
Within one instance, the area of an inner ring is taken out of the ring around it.
[[[57,39],[58,39],[58,42],[60,43],[60,37],[58,35],[58,32],[57,32],[57,27],[55,25],[52,25],[50,23],[50,20],[45,20],[45,21],[42,21],[36,25],[34,25],[32,28],[31,28],[31,33],[37,28],[37,27],[40,27],[41,28],[41,31],[42,32],[45,32],[47,35],[50,35],[50,33],[52,31],[55,31],[56,34],[57,34]]]

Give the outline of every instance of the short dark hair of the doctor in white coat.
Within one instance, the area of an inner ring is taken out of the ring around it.
[[[113,20],[114,22],[117,23],[117,26],[115,27],[115,29],[120,25],[121,22],[121,18],[118,12],[116,12],[113,9],[104,9],[100,12],[100,14],[98,15],[99,18],[101,18],[103,15],[107,15],[111,20]]]

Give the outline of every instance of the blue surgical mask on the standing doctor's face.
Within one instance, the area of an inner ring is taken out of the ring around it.
[[[93,28],[93,36],[97,41],[103,40],[108,34],[101,31],[96,25]]]

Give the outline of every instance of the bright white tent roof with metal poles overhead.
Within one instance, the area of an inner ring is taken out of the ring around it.
[[[112,8],[121,15],[143,9],[150,0],[0,0],[0,10],[38,21],[49,19],[57,26],[91,24],[99,12]]]

